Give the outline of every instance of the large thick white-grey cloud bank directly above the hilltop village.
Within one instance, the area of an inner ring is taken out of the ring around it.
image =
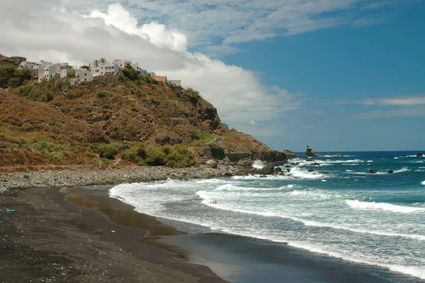
[[[22,1],[18,0],[18,5],[23,5]],[[181,79],[183,87],[200,91],[235,128],[249,121],[278,120],[300,104],[288,90],[261,84],[254,72],[186,51],[184,33],[157,22],[140,25],[121,4],[111,4],[103,12],[69,11],[63,2],[54,1],[40,11],[29,5],[24,18],[16,17],[23,10],[12,1],[0,11],[0,53],[73,65],[99,57],[140,62],[147,70]],[[256,126],[265,131],[260,123]],[[251,133],[255,130],[251,128]]]

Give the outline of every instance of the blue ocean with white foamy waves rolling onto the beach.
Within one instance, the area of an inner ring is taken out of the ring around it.
[[[289,160],[297,165],[285,176],[120,184],[109,194],[188,233],[237,236],[406,275],[397,281],[387,274],[385,282],[425,279],[425,156],[342,153]]]

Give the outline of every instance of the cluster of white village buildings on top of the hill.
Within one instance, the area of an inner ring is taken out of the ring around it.
[[[167,79],[166,76],[157,76],[154,72],[148,72],[139,67],[139,63],[132,63],[131,60],[115,59],[108,62],[105,58],[94,60],[93,65],[82,65],[80,67],[70,66],[67,62],[52,63],[41,60],[40,62],[27,61],[25,57],[13,57],[13,60],[19,64],[19,68],[26,68],[32,71],[32,78],[35,82],[41,82],[42,79],[51,79],[59,75],[62,79],[69,77],[70,72],[75,72],[71,78],[71,85],[80,82],[90,82],[94,77],[106,75],[118,75],[120,70],[130,66],[144,76],[150,76],[158,82],[174,84],[181,87],[181,81],[176,79]]]

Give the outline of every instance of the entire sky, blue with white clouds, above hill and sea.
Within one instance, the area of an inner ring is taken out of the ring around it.
[[[181,79],[277,150],[425,150],[425,0],[0,0],[0,54]]]

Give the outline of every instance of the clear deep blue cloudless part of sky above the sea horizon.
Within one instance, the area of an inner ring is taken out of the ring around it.
[[[423,15],[425,4],[418,2],[370,26],[339,26],[244,43],[237,46],[243,52],[222,60],[261,72],[266,84],[304,96],[294,121],[281,121],[286,135],[259,137],[274,148],[301,151],[309,144],[319,151],[421,150],[424,99],[412,104],[412,113],[397,105],[354,101],[425,98]]]

